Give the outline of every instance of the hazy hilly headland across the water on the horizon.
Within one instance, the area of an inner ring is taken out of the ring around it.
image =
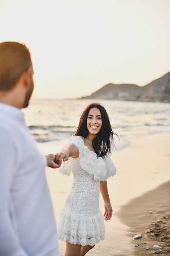
[[[170,102],[170,72],[149,84],[106,84],[89,96],[77,99],[108,99],[143,102]]]

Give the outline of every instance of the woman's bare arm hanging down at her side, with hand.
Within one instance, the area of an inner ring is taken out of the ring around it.
[[[105,217],[105,220],[108,221],[112,217],[112,207],[111,207],[111,202],[108,194],[107,181],[100,181],[100,192],[105,202],[105,213],[103,216]]]

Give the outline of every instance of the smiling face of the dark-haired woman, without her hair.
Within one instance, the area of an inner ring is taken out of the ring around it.
[[[102,128],[102,115],[98,108],[91,108],[87,118],[87,128],[89,133],[98,134]]]

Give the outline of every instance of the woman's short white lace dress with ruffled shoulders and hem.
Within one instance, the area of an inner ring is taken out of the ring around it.
[[[79,157],[62,163],[63,175],[74,175],[74,182],[65,206],[59,215],[58,236],[71,244],[94,245],[105,239],[105,225],[99,210],[100,180],[116,174],[110,157],[97,157],[81,137],[71,137],[70,143],[77,146]]]

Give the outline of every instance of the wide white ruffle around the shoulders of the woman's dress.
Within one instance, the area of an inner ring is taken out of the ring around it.
[[[84,141],[79,136],[73,136],[70,138],[70,143],[77,146],[79,150],[79,163],[83,170],[88,174],[94,176],[94,180],[106,181],[109,177],[116,174],[116,168],[110,157],[97,157],[97,154],[90,151],[84,144]],[[71,157],[69,158],[71,159]],[[62,163],[59,172],[65,175],[70,175],[71,172],[71,160],[70,163]]]

